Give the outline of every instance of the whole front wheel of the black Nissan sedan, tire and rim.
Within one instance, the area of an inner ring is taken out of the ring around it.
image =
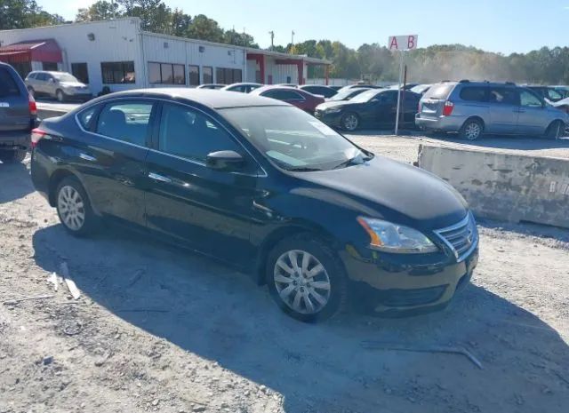
[[[323,321],[346,306],[348,282],[343,267],[333,251],[312,234],[277,243],[268,254],[265,272],[271,297],[296,320]]]

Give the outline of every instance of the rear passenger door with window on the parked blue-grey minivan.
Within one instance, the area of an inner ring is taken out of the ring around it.
[[[519,92],[514,87],[490,86],[488,91],[489,122],[485,131],[489,133],[516,133],[519,115]]]

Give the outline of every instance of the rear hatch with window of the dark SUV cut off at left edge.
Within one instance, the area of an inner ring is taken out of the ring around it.
[[[0,66],[0,132],[29,131],[30,127],[26,85],[15,70]]]

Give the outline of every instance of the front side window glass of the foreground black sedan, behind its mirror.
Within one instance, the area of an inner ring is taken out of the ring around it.
[[[216,151],[242,152],[228,132],[205,115],[171,104],[164,104],[162,109],[158,146],[167,154],[200,162],[205,162],[206,156]]]

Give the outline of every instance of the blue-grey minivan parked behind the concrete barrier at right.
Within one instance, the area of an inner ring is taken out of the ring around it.
[[[419,103],[416,125],[426,131],[458,132],[475,140],[485,133],[564,135],[569,115],[515,83],[436,83]]]

